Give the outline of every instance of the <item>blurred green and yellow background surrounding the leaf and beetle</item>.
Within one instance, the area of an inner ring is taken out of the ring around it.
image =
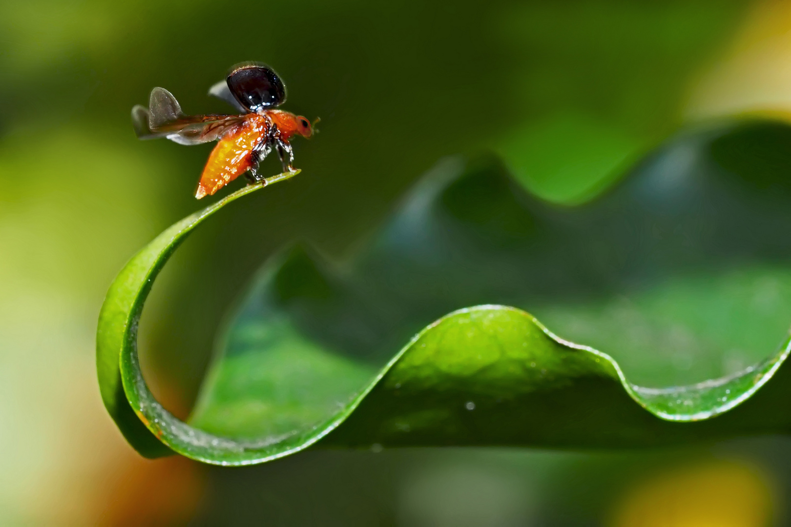
[[[780,437],[630,452],[312,450],[248,469],[134,453],[101,405],[97,314],[127,258],[202,205],[192,195],[211,145],[137,141],[129,112],[157,85],[187,112],[227,111],[206,90],[250,59],[282,74],[286,109],[320,116],[321,133],[295,145],[299,178],[223,211],[157,281],[142,360],[181,417],[223,314],[283,243],[347,260],[444,156],[497,152],[532,192],[573,204],[691,122],[791,110],[791,6],[2,2],[0,523],[791,520]]]

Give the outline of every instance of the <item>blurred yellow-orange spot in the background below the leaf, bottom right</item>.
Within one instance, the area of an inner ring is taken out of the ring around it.
[[[771,492],[759,471],[720,461],[663,472],[631,487],[613,527],[759,527],[769,525]]]

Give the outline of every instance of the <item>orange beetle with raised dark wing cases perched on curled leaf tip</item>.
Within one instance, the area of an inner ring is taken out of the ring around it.
[[[260,62],[244,62],[231,68],[225,81],[209,94],[232,104],[240,115],[184,115],[165,88],[153,88],[149,107],[132,108],[134,132],[140,139],[167,137],[180,145],[218,141],[200,176],[195,198],[214,194],[247,172],[251,183],[261,181],[258,164],[273,149],[283,171],[293,171],[290,139],[310,137],[311,123],[301,115],[276,110],[286,102],[286,85],[278,73]]]

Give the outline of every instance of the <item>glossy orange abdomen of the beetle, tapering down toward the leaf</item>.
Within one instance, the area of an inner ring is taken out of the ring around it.
[[[195,198],[214,194],[248,171],[252,166],[252,150],[266,136],[268,126],[262,115],[249,114],[236,130],[225,134],[206,161]]]

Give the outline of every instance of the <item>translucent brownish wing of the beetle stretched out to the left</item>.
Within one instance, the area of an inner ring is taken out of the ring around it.
[[[180,145],[199,145],[216,141],[228,130],[244,122],[244,115],[184,115],[165,88],[153,88],[149,107],[132,108],[134,133],[140,139],[167,137]]]

